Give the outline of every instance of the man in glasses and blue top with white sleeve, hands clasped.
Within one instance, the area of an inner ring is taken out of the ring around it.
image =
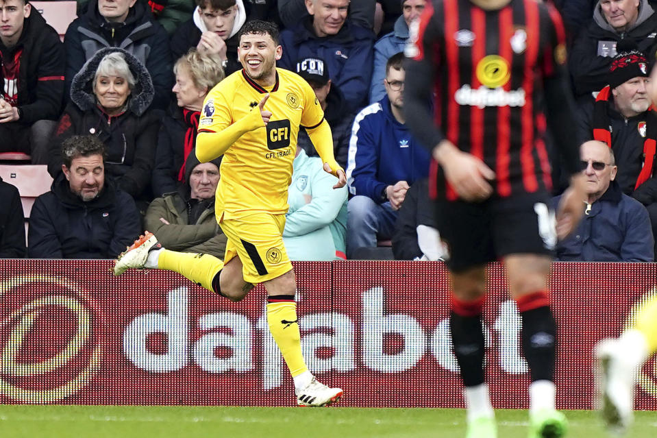
[[[415,180],[429,173],[430,156],[404,118],[404,53],[386,64],[386,95],[356,116],[347,158],[347,258],[390,239],[397,210]]]

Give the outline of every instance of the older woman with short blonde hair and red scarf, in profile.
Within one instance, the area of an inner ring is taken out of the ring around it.
[[[173,66],[176,105],[162,122],[158,136],[153,193],[172,193],[185,182],[185,162],[196,145],[203,99],[224,78],[221,62],[190,49]]]

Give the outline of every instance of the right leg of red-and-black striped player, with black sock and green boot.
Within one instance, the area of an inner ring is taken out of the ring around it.
[[[565,416],[556,411],[554,363],[556,322],[549,308],[549,256],[512,254],[504,258],[512,297],[522,320],[522,346],[530,367],[530,438],[566,434]]]

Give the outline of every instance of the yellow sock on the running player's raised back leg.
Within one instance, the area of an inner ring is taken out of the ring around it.
[[[208,291],[216,292],[212,280],[223,269],[223,261],[210,254],[161,250],[158,269],[175,271]]]

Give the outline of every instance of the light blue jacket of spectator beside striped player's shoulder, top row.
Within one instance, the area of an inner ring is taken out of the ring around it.
[[[369,103],[374,104],[386,95],[383,80],[386,78],[386,64],[391,56],[404,51],[408,40],[408,25],[404,16],[395,21],[395,30],[382,36],[374,45],[374,69],[372,83],[369,86]]]

